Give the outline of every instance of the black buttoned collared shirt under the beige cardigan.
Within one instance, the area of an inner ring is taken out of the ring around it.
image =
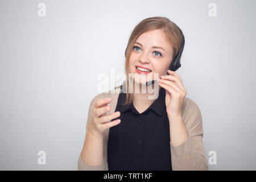
[[[119,93],[115,111],[121,123],[110,127],[108,167],[112,170],[172,170],[170,127],[165,104],[166,90],[143,113],[134,105],[122,105],[126,93]],[[112,119],[115,120],[115,119]]]

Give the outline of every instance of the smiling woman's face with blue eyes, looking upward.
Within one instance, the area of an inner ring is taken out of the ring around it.
[[[158,73],[159,77],[166,75],[172,61],[172,53],[172,46],[162,30],[144,32],[133,45],[129,73],[132,73],[137,84],[156,80],[158,77],[154,77],[154,73]]]

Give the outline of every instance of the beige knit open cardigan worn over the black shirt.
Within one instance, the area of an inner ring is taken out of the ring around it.
[[[114,88],[110,92],[102,92],[95,96],[90,102],[88,119],[86,122],[86,131],[88,123],[92,119],[92,108],[95,102],[100,98],[111,97],[112,101],[108,104],[111,107],[109,114],[115,112],[117,100],[121,88]],[[171,146],[172,170],[208,170],[207,159],[205,157],[203,146],[203,122],[199,106],[190,98],[185,97],[181,107],[181,115],[185,127],[187,128],[189,138],[179,146]],[[108,171],[108,137],[109,129],[104,131],[104,162],[99,166],[89,166],[82,160],[81,154],[78,159],[78,170],[85,171]]]

